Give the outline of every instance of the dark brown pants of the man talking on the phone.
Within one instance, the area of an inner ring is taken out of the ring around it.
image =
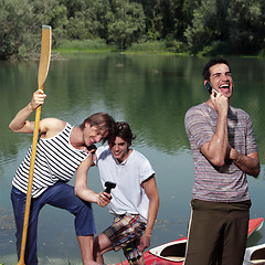
[[[242,265],[251,201],[191,201],[184,265]]]

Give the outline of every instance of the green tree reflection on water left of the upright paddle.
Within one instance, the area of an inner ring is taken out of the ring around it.
[[[29,103],[33,91],[36,89],[36,71],[38,62],[1,63],[0,170],[2,161],[11,161],[13,155],[18,153],[18,144],[25,140],[21,135],[12,132],[8,126],[14,115]]]

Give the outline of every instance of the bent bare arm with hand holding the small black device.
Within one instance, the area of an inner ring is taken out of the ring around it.
[[[75,174],[75,194],[84,201],[97,203],[99,206],[106,206],[109,203],[107,193],[100,192],[97,194],[87,188],[87,173],[92,166],[92,156],[89,156],[80,165]]]

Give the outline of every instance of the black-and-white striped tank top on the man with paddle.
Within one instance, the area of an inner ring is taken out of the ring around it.
[[[66,124],[56,136],[38,140],[33,173],[32,197],[38,198],[57,181],[67,182],[89,153],[75,149],[70,142],[73,126]],[[26,193],[32,146],[18,168],[12,184]]]

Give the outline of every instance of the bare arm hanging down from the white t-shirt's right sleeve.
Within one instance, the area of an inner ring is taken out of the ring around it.
[[[140,239],[139,251],[144,251],[146,247],[150,246],[150,239],[153,229],[155,221],[157,219],[158,208],[159,208],[159,195],[156,184],[155,176],[151,176],[148,180],[142,182],[142,188],[149,199],[148,208],[148,219],[146,230]]]

